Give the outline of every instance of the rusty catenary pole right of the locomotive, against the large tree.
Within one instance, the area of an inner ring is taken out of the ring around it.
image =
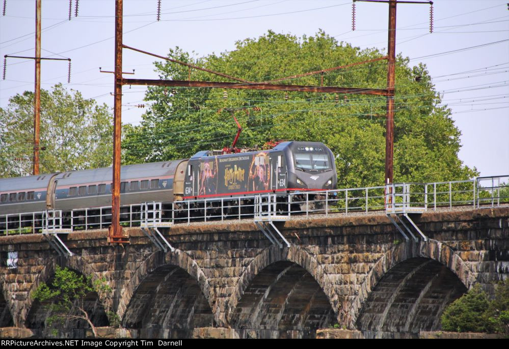
[[[385,181],[393,180],[394,157],[394,67],[396,61],[396,0],[389,1],[389,40],[387,55],[387,122],[385,131]]]

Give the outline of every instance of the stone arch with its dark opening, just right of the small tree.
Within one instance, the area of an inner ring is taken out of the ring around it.
[[[152,253],[124,287],[118,314],[127,328],[150,337],[189,337],[211,326],[215,303],[208,279],[196,261],[175,250]]]

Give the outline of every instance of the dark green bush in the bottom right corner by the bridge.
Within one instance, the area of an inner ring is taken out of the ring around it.
[[[444,331],[503,333],[509,336],[509,280],[495,286],[495,298],[491,301],[480,285],[475,285],[447,306],[441,320]]]

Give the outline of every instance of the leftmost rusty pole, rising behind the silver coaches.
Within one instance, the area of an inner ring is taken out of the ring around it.
[[[39,175],[39,126],[41,120],[41,0],[35,1],[35,94],[34,94],[34,166]]]

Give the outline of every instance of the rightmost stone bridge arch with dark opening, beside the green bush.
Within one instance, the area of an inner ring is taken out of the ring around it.
[[[431,239],[399,244],[371,268],[352,306],[349,326],[355,322],[365,331],[437,329],[444,307],[474,282],[470,268],[446,244]],[[405,303],[405,311],[397,313],[398,302]],[[425,321],[418,318],[423,307],[428,313]]]

